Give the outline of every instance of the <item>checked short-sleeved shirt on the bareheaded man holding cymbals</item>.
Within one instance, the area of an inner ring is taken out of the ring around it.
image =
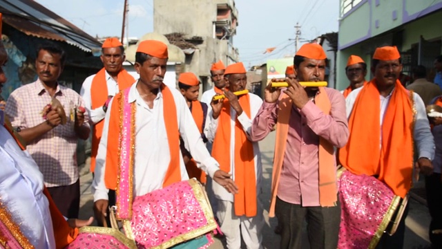
[[[47,187],[71,185],[79,178],[76,156],[77,136],[70,113],[72,110],[73,114],[74,107],[84,107],[84,102],[73,89],[61,85],[57,86],[55,97],[63,105],[68,122],[48,131],[26,147],[39,165]],[[40,80],[13,91],[5,109],[12,127],[26,129],[45,122],[41,111],[46,104],[50,104],[51,99]],[[89,126],[86,117],[88,115],[85,115],[83,125]]]

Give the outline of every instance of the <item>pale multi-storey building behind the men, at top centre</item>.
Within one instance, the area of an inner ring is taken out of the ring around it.
[[[155,0],[153,30],[168,37],[185,55],[184,71],[198,75],[203,89],[211,88],[210,67],[219,59],[238,62],[233,37],[238,10],[233,0]],[[172,39],[173,38],[173,39]]]

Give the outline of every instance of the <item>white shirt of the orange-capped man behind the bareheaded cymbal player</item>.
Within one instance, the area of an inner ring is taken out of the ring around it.
[[[111,75],[108,74],[108,71],[105,71],[104,75],[106,75],[106,86],[108,87],[108,96],[115,96],[119,92],[118,83],[113,79]],[[95,75],[90,75],[84,80],[83,85],[81,86],[80,95],[84,100],[85,108],[89,113],[89,120],[92,122],[91,124],[96,124],[100,120],[106,116],[102,106],[92,109],[92,97],[90,94],[90,87],[92,86],[92,81]],[[104,104],[104,102],[103,102]]]

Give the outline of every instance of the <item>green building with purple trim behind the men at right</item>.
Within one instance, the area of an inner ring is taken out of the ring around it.
[[[434,77],[434,58],[442,53],[442,0],[340,0],[336,88],[348,85],[345,65],[359,55],[367,66],[376,47],[397,46],[403,73],[425,66]],[[367,79],[372,77],[367,73]]]

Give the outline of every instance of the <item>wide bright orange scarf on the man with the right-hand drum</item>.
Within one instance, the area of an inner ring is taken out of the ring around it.
[[[350,172],[378,175],[380,181],[402,198],[412,183],[413,106],[412,92],[396,80],[380,127],[379,91],[376,80],[368,82],[354,102],[349,117],[349,140],[339,151],[340,163]]]

